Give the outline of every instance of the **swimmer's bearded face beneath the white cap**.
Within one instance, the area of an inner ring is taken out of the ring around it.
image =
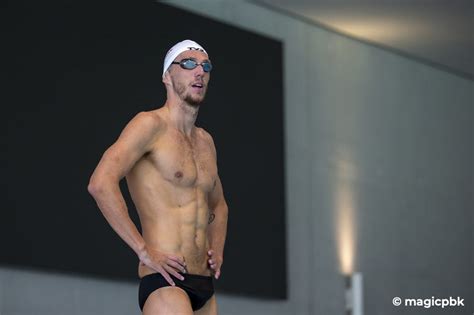
[[[197,63],[209,61],[209,57],[201,51],[184,51],[175,58],[174,61],[183,59],[193,59]],[[183,69],[179,64],[171,64],[169,75],[173,91],[191,106],[199,106],[206,96],[210,73],[204,72],[201,65],[188,70]]]

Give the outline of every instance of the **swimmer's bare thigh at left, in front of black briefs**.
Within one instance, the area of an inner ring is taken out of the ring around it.
[[[163,287],[153,291],[143,306],[143,315],[192,315],[189,297],[178,287]]]

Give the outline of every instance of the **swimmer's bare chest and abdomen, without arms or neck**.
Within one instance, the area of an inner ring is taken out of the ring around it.
[[[191,136],[167,123],[163,109],[152,146],[127,174],[127,184],[140,217],[147,247],[183,256],[187,272],[210,275],[208,194],[217,180],[216,156],[210,136],[194,128]],[[139,276],[154,273],[139,266]]]

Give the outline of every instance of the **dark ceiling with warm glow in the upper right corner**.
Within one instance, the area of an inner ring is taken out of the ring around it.
[[[255,0],[371,45],[474,78],[473,0]]]

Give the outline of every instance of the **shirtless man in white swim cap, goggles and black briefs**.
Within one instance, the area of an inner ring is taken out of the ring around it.
[[[212,137],[194,125],[212,69],[191,40],[166,54],[163,107],[137,114],[107,149],[88,186],[140,263],[143,314],[217,314],[227,204]],[[131,221],[119,188],[126,177],[142,226]]]

